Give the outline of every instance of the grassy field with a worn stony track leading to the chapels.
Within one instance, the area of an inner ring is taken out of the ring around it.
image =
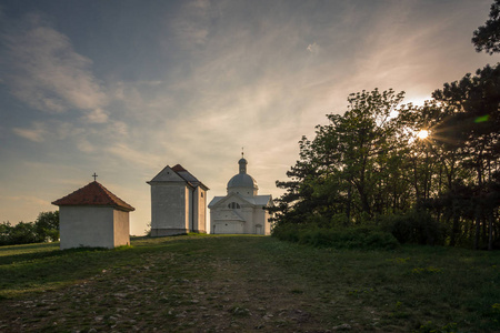
[[[0,332],[500,332],[500,252],[131,243],[0,248]]]

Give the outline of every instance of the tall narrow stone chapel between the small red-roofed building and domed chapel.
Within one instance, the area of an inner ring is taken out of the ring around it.
[[[207,188],[182,165],[167,165],[151,181],[151,236],[207,232]]]

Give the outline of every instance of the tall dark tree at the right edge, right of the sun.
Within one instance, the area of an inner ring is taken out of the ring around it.
[[[491,249],[494,228],[491,216],[498,203],[486,198],[488,183],[500,169],[500,64],[487,65],[473,77],[468,73],[460,81],[444,83],[432,97],[447,114],[446,121],[434,130],[443,142],[454,142],[459,147],[462,169],[474,173],[468,184],[468,192],[472,193],[469,200],[476,208],[474,248],[480,246],[482,226],[483,239],[488,229]]]

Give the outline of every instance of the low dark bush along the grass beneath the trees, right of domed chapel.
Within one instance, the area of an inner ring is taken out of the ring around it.
[[[396,249],[398,241],[389,232],[374,228],[318,228],[317,225],[286,224],[274,228],[272,235],[281,241],[317,248],[333,249]]]

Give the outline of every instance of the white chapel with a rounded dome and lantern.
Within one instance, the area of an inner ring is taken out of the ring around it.
[[[210,233],[216,234],[271,234],[270,194],[258,195],[257,181],[247,173],[247,160],[241,154],[239,173],[228,182],[228,194],[214,196],[209,203]]]

